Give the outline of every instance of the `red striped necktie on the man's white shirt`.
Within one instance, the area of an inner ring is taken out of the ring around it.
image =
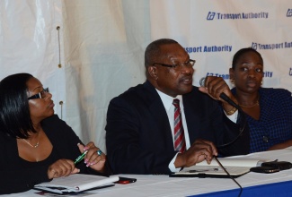
[[[186,144],[181,120],[180,100],[173,99],[174,106],[174,150],[184,152]]]

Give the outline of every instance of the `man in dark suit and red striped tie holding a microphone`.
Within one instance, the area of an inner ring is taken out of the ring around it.
[[[249,152],[249,133],[236,139],[244,118],[219,97],[225,92],[237,102],[226,82],[208,77],[205,87],[192,86],[194,64],[173,39],[146,47],[147,81],[112,99],[108,108],[106,146],[114,174],[170,174],[204,159],[210,162],[218,153]],[[173,99],[180,100],[184,150],[176,150],[174,143]]]

